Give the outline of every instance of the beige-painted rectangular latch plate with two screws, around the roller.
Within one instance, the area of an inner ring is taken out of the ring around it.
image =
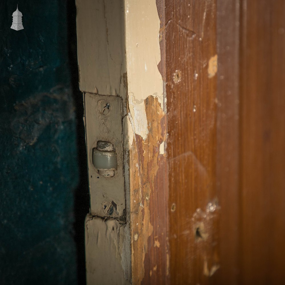
[[[84,98],[91,215],[125,222],[122,98],[92,93],[85,93]],[[94,166],[98,141],[112,144],[116,152],[117,169],[111,170],[112,177],[108,170]]]

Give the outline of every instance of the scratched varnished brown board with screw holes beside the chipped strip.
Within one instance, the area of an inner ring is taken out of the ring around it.
[[[216,197],[216,1],[165,1],[170,280],[219,270]]]

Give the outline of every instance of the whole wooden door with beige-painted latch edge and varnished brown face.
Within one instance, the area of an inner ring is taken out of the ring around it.
[[[282,284],[285,2],[77,9],[87,283]],[[119,180],[96,174],[99,138],[115,147]]]

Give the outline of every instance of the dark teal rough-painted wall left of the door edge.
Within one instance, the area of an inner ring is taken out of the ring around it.
[[[0,2],[0,284],[77,284],[67,15],[66,1]]]

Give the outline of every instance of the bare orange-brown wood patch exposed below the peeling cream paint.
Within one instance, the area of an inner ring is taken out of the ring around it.
[[[160,121],[165,116],[157,97],[149,96],[144,100],[148,135],[145,140],[137,134],[130,151],[130,188],[131,191],[131,232],[138,235],[132,243],[133,282],[140,284],[144,277],[144,257],[148,251],[148,237],[153,233],[150,224],[150,193],[153,191],[154,178],[158,171],[158,152],[165,137],[162,137]],[[154,115],[155,114],[155,115]],[[137,162],[138,167],[137,167]],[[135,203],[133,201],[140,201]],[[160,242],[154,241],[159,248]]]

